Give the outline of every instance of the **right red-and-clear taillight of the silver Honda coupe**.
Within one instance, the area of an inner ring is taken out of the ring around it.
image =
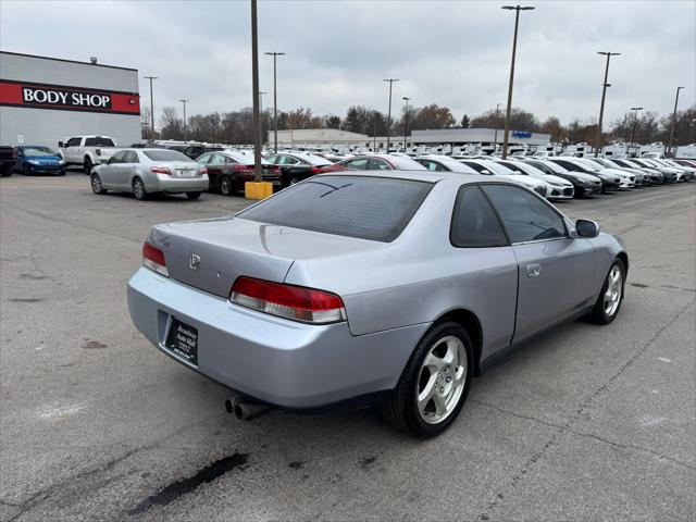
[[[232,287],[229,299],[243,307],[303,323],[326,324],[346,320],[340,297],[302,286],[239,277]]]

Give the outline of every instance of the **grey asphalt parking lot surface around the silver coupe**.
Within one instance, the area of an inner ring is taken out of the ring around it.
[[[0,181],[1,520],[693,520],[696,183],[559,203],[625,240],[619,318],[494,366],[427,442],[372,410],[237,421],[135,330],[149,227],[246,204]]]

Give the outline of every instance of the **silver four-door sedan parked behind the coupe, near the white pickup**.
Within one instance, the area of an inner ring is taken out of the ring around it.
[[[198,199],[208,190],[208,171],[190,158],[169,149],[123,149],[92,169],[91,189],[132,192],[145,200],[153,194],[186,194]]]

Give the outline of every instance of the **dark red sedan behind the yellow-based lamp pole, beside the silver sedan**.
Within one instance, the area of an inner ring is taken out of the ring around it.
[[[232,196],[244,190],[246,182],[253,182],[253,154],[236,150],[220,150],[206,152],[196,161],[208,169],[211,192]],[[281,171],[275,165],[264,162],[262,175],[263,181],[272,183],[274,189],[281,188]]]

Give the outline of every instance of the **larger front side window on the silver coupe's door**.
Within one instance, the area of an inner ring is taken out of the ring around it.
[[[484,185],[483,191],[498,212],[511,243],[564,237],[562,217],[548,204],[523,188]]]

